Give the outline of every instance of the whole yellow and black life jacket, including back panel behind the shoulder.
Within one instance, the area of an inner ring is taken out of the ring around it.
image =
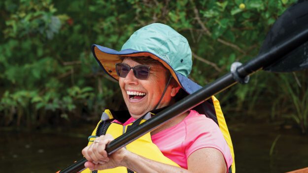
[[[204,114],[206,115],[206,117],[213,119],[215,123],[219,126],[230,148],[230,152],[233,158],[233,163],[229,168],[228,172],[235,173],[235,159],[234,159],[233,145],[224,115],[220,108],[219,101],[214,96],[212,96],[210,99],[194,107],[193,109],[196,110],[199,114]],[[114,123],[112,121],[116,119],[122,123],[126,122],[131,117],[128,111],[105,110],[103,112],[100,122],[94,129],[92,136],[101,136],[104,134],[110,134],[115,139],[124,134],[130,128],[134,128],[134,126],[149,119],[153,114],[155,113],[149,112],[148,114],[144,115],[142,119],[139,118],[135,122],[127,126],[123,126],[121,124]],[[93,143],[92,141],[93,140],[89,140],[88,145],[92,144]],[[127,144],[126,149],[133,153],[146,157],[148,159],[179,167],[172,160],[164,156],[163,153],[159,150],[159,148],[155,144],[153,144],[150,132],[140,137],[139,139],[133,141],[132,143]],[[98,172],[97,171],[91,172],[89,169],[86,169],[81,173],[134,173],[134,172],[125,167],[117,167],[114,169],[102,170]]]

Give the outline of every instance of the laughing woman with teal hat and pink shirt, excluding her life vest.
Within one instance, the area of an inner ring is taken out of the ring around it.
[[[131,115],[123,125],[152,110],[170,106],[183,93],[191,94],[200,88],[187,78],[192,59],[186,38],[164,24],[138,29],[120,52],[99,45],[93,45],[92,51],[105,72],[119,81]],[[216,101],[213,99],[212,102]],[[217,109],[220,110],[219,105],[215,106],[214,114]],[[205,111],[206,115],[207,112],[211,114],[212,110]],[[230,139],[226,142],[217,124],[195,110],[152,131],[151,139],[164,156],[179,167],[148,159],[125,148],[107,156],[104,148],[113,140],[108,134],[96,138],[82,150],[88,160],[85,167],[105,170],[124,166],[137,173],[226,173],[231,170],[233,150],[230,151],[227,144]]]

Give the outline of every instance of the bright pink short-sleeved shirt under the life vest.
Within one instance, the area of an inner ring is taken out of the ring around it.
[[[132,121],[134,118],[130,118],[123,125]],[[194,110],[177,125],[153,135],[152,141],[166,157],[184,169],[187,169],[190,154],[204,147],[218,149],[223,154],[228,169],[233,162],[230,148],[218,125]]]

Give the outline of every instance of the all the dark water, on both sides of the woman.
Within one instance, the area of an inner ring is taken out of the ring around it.
[[[308,167],[308,136],[271,124],[229,123],[237,173],[284,173]],[[84,127],[80,127],[84,128]],[[79,128],[79,129],[80,129]],[[0,132],[0,173],[55,173],[79,160],[87,144],[81,135],[40,131]],[[280,135],[270,156],[274,139]]]

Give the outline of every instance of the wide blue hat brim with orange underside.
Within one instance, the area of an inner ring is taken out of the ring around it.
[[[159,56],[150,52],[141,52],[133,49],[125,49],[122,51],[116,51],[110,48],[106,48],[97,44],[92,45],[92,53],[96,58],[103,70],[115,80],[119,80],[119,76],[115,71],[115,64],[122,62],[122,57],[151,57],[161,62],[169,71],[176,82],[189,94],[197,91],[201,88],[198,84],[187,78],[186,76],[176,72],[173,68]]]

